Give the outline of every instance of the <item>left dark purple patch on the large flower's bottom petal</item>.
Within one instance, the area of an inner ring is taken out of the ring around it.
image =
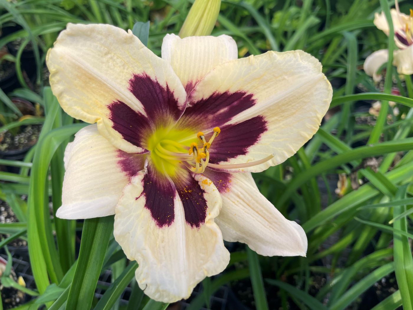
[[[145,196],[145,208],[151,212],[151,216],[158,227],[170,226],[175,218],[173,212],[176,195],[175,186],[149,166],[142,182],[143,191],[141,196]]]

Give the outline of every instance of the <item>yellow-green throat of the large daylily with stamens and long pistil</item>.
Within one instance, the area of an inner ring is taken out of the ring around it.
[[[274,155],[261,160],[234,165],[217,165],[209,162],[210,147],[221,133],[219,127],[213,129],[213,134],[207,141],[204,133],[198,132],[197,142],[190,131],[160,129],[147,141],[147,149],[151,151],[154,167],[161,173],[175,176],[177,169],[188,169],[192,173],[203,173],[207,167],[216,169],[237,169],[261,165]]]

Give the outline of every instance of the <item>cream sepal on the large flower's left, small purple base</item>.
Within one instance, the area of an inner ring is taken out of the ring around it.
[[[114,148],[96,124],[81,129],[64,154],[66,173],[57,217],[88,219],[114,214],[123,187],[143,169],[144,160],[145,155]]]

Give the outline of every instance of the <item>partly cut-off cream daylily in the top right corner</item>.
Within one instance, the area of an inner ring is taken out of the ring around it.
[[[413,74],[413,10],[410,10],[410,16],[401,13],[396,1],[396,9],[390,10],[390,14],[394,28],[394,42],[400,48],[394,51],[393,65],[397,67],[399,74]],[[376,13],[373,23],[389,35],[389,24],[384,12]],[[387,50],[373,52],[364,62],[364,71],[373,76],[374,81],[380,81],[381,75],[377,74],[377,70],[387,62],[387,59]]]

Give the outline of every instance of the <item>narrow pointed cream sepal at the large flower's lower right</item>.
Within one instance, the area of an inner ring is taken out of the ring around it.
[[[222,196],[215,222],[224,240],[246,243],[266,256],[306,256],[307,237],[294,221],[287,220],[258,190],[250,173],[207,171]]]

